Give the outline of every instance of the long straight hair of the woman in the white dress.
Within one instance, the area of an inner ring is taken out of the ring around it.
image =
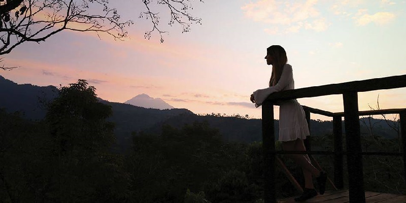
[[[278,83],[281,78],[283,66],[288,62],[286,51],[279,45],[272,45],[266,49],[266,55],[272,57],[272,74],[269,79],[269,87]]]

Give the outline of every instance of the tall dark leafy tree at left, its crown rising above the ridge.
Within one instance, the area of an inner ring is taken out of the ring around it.
[[[123,202],[127,198],[122,157],[110,153],[114,124],[106,119],[111,114],[111,106],[98,102],[95,88],[86,80],[59,89],[45,119],[53,143],[52,201]]]

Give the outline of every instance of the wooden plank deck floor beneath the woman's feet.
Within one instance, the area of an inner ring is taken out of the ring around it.
[[[349,202],[348,190],[326,191],[324,195],[317,195],[312,199],[304,202],[329,202],[329,203],[346,203]],[[406,195],[387,194],[379,192],[365,192],[366,203],[406,203]],[[278,200],[278,203],[296,202],[294,197]]]

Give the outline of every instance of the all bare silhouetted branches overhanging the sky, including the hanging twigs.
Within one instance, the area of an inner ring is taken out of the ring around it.
[[[150,39],[151,33],[156,31],[163,42],[162,34],[166,33],[159,28],[159,12],[154,4],[170,12],[168,24],[180,24],[183,32],[190,30],[192,22],[200,23],[200,18],[189,13],[192,0],[140,1],[145,10],[139,17],[150,20],[153,25],[145,32],[146,39]],[[121,40],[127,36],[125,27],[131,24],[133,21],[123,21],[117,9],[109,7],[109,0],[1,0],[0,55],[10,53],[24,42],[45,41],[62,30],[91,31],[98,36],[99,33],[107,33],[115,40]]]

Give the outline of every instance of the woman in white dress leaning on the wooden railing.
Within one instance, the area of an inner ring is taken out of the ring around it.
[[[273,45],[266,49],[266,64],[272,65],[272,74],[269,87],[258,89],[251,94],[250,100],[255,107],[261,106],[262,102],[273,92],[294,89],[292,66],[287,64],[288,58],[285,49],[279,45]],[[285,151],[306,151],[303,140],[310,135],[306,116],[303,108],[296,99],[281,101],[279,109],[279,141]],[[319,193],[324,194],[327,175],[318,171],[311,163],[307,154],[289,154],[299,166],[304,175],[303,194],[296,197],[296,201],[304,201],[317,195],[314,189],[312,177],[316,177],[319,185]]]

